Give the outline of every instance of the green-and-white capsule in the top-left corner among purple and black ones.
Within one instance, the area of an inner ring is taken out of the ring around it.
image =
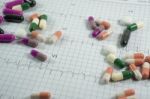
[[[30,8],[30,5],[28,3],[22,3],[20,5],[16,5],[12,7],[13,10],[17,10],[17,11],[24,11],[29,8]]]

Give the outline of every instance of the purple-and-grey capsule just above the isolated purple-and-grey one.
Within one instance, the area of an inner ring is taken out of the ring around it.
[[[24,45],[27,45],[33,48],[38,46],[38,42],[36,40],[29,39],[29,38],[22,38],[21,40],[19,40],[19,43],[22,43]]]

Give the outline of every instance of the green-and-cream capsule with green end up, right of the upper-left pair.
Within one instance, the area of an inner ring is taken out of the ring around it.
[[[47,27],[47,15],[43,14],[39,17],[39,19],[40,19],[39,28],[46,29],[46,27]]]

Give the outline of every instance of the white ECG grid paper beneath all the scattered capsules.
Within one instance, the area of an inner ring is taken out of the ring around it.
[[[0,8],[8,0],[1,0]],[[102,45],[118,44],[123,28],[117,24],[122,16],[142,20],[144,29],[132,33],[128,46],[118,48],[118,57],[129,51],[150,54],[150,0],[36,0],[37,6],[25,11],[48,14],[44,35],[63,30],[64,38],[55,45],[40,48],[50,58],[39,62],[30,57],[31,48],[18,44],[0,44],[0,99],[29,99],[31,93],[51,91],[53,99],[113,99],[116,93],[134,88],[138,99],[150,97],[150,81],[121,81],[102,85],[103,70],[109,65],[100,54]],[[0,12],[0,14],[2,14]],[[114,33],[105,41],[89,34],[88,16],[108,19]],[[4,23],[4,30],[14,33],[16,27],[28,29],[29,23]]]

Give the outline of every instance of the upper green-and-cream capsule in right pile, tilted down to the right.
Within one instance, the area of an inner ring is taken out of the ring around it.
[[[107,55],[106,60],[120,69],[126,66],[125,62],[119,58],[116,58],[114,54]]]

